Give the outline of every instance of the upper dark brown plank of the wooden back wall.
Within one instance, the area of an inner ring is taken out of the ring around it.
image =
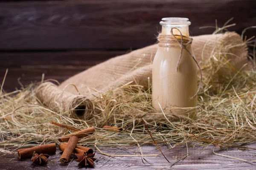
[[[136,49],[156,42],[163,17],[188,17],[192,35],[234,17],[256,23],[255,0],[65,0],[0,3],[0,50]],[[247,31],[248,36],[255,30]]]

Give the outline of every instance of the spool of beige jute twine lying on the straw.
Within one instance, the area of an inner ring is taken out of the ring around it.
[[[35,94],[47,108],[67,113],[74,119],[90,119],[93,115],[93,103],[86,96],[62,91],[51,82],[39,85]]]

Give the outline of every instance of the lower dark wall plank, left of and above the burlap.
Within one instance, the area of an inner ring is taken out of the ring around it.
[[[23,85],[44,79],[63,82],[69,77],[99,64],[111,57],[128,51],[66,51],[66,52],[0,52],[0,83],[6,68],[9,69],[4,90],[20,89],[18,79]]]

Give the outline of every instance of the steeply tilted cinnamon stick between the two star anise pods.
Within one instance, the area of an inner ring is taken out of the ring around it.
[[[76,147],[77,142],[78,142],[78,137],[76,136],[70,137],[70,139],[67,142],[67,147],[61,155],[61,159],[60,159],[61,163],[65,163],[69,160],[71,154],[73,153]]]

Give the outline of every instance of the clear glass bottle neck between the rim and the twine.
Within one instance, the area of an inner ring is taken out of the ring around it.
[[[180,30],[181,34],[183,36],[189,37],[189,26],[168,26],[168,25],[162,25],[162,35],[172,35],[171,29],[177,28]],[[173,29],[173,34],[180,35],[180,32],[177,29]]]

